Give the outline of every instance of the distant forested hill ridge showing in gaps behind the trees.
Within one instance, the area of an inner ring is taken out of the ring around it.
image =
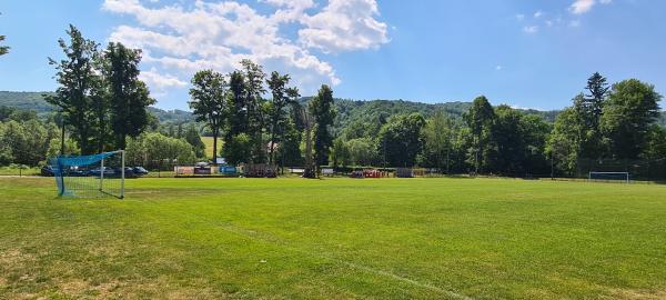
[[[11,107],[22,110],[33,110],[38,114],[44,114],[54,111],[54,108],[47,103],[43,94],[51,92],[14,92],[0,91],[0,107]],[[311,97],[301,98],[301,102],[307,102]],[[405,100],[349,100],[336,99],[335,107],[337,118],[335,121],[336,129],[347,128],[354,123],[380,122],[382,119],[389,118],[398,113],[420,112],[426,118],[436,110],[444,110],[454,118],[462,117],[470,108],[470,102],[445,102],[445,103],[422,103]],[[191,112],[183,110],[162,110],[159,108],[150,108],[150,111],[158,117],[160,122],[165,123],[182,123],[192,122],[194,118]],[[525,113],[542,116],[546,121],[553,122],[559,111],[538,111],[523,110]],[[662,112],[659,123],[666,127],[666,112]]]

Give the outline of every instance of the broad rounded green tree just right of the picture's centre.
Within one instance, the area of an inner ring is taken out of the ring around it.
[[[422,149],[421,130],[425,119],[421,113],[398,114],[380,130],[377,149],[389,166],[413,167]]]

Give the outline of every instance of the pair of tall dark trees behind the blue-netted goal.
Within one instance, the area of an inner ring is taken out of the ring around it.
[[[58,41],[64,58],[49,58],[60,86],[46,97],[61,111],[62,134],[68,126],[83,154],[124,149],[128,137],[145,130],[147,108],[154,103],[139,80],[141,50],[110,42],[102,51],[73,26],[67,34],[69,43]]]

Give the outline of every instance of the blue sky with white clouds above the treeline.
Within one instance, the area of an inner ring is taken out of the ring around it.
[[[65,3],[67,4],[63,4]],[[47,57],[69,23],[104,44],[144,49],[158,107],[186,109],[202,68],[242,58],[289,72],[303,94],[470,101],[559,109],[599,71],[666,94],[666,1],[261,0],[3,1],[0,90],[56,89]]]

